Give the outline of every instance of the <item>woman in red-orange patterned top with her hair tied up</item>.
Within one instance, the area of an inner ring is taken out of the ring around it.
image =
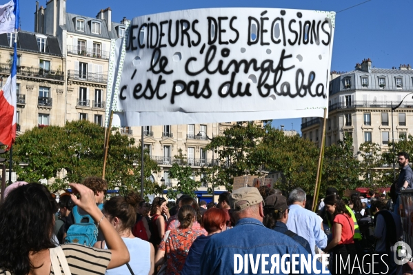
[[[165,275],[181,274],[185,259],[192,243],[198,236],[203,235],[201,230],[192,230],[192,225],[197,218],[197,212],[190,205],[183,205],[178,212],[179,227],[170,230],[168,238],[159,245],[155,266],[167,261]]]

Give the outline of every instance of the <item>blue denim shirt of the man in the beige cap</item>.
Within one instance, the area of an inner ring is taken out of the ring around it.
[[[263,261],[260,258],[259,261],[256,261],[258,269],[254,273],[252,265],[248,263],[248,272],[246,274],[270,273],[272,268],[271,257],[274,254],[279,256],[280,262],[284,254],[300,254],[308,257],[308,252],[305,248],[289,236],[265,227],[263,223],[255,218],[242,218],[231,230],[211,236],[201,255],[201,275],[234,274],[235,254],[241,254],[243,258],[245,254],[251,254],[248,256],[248,259],[253,257],[254,261],[257,260],[258,256],[262,257],[263,254],[268,254],[267,258],[265,258],[268,264],[263,266]],[[298,260],[299,264],[296,265],[296,269],[300,270],[301,261],[300,259]],[[291,261],[291,259],[287,258],[287,261]],[[322,272],[321,263],[319,261],[316,262],[316,269]],[[240,266],[242,267],[241,274],[245,274],[243,265]],[[265,267],[264,271],[266,270],[267,272],[263,273],[263,267]],[[274,270],[274,273],[276,273],[276,270]],[[281,267],[279,274],[283,274]],[[304,269],[303,274],[316,273],[314,273],[314,270],[307,273],[307,270]]]

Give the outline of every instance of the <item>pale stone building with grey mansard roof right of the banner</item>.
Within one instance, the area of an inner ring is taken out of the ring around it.
[[[332,72],[325,145],[352,135],[354,153],[366,141],[388,150],[388,142],[413,134],[413,71],[410,65],[399,68],[372,68],[372,61],[357,63],[351,72]],[[403,103],[401,101],[403,100]],[[399,108],[394,110],[392,106]],[[392,130],[393,129],[393,130]],[[303,118],[304,139],[321,145],[323,119]]]

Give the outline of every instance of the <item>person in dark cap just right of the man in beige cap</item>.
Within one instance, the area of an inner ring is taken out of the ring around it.
[[[276,232],[283,233],[294,241],[303,245],[308,254],[311,254],[310,243],[305,238],[288,230],[286,225],[288,221],[288,205],[287,198],[282,195],[271,195],[265,198],[263,224]]]

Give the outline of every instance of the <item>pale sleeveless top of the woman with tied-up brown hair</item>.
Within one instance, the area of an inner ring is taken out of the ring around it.
[[[135,275],[149,274],[150,272],[150,243],[141,238],[123,238],[130,254],[130,268]],[[105,243],[105,249],[108,249]],[[113,269],[107,269],[106,275],[128,275],[130,271],[127,265],[121,265]]]

